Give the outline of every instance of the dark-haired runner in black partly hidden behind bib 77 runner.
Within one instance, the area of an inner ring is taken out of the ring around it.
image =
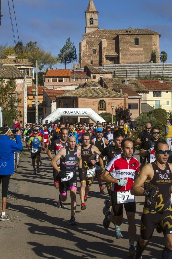
[[[116,130],[114,132],[114,146],[105,147],[102,151],[103,157],[107,156],[107,162],[109,163],[112,159],[118,157],[118,155],[122,154],[121,150],[121,142],[124,139],[124,132],[121,130]],[[101,156],[99,156],[99,162],[102,168],[102,173],[105,170],[105,167],[103,167],[103,160],[101,159]],[[111,178],[111,175],[109,174],[109,177]],[[109,197],[111,197],[111,188],[112,183],[106,182],[107,191],[109,194]],[[110,210],[110,207],[112,206],[111,199],[105,199],[104,201],[105,206],[103,207],[103,214],[105,215],[108,210]],[[113,210],[112,210],[113,213]],[[115,225],[115,232],[116,232],[116,238],[122,238],[123,235],[121,234],[120,227],[118,225]]]

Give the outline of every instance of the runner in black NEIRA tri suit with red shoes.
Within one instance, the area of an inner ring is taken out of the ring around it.
[[[82,158],[82,164],[79,165],[81,168],[79,171],[79,179],[81,182],[79,195],[81,199],[81,210],[85,210],[87,207],[84,202],[88,199],[88,191],[91,189],[93,176],[95,174],[94,165],[96,161],[98,161],[98,159],[96,160],[94,157],[95,154],[100,155],[101,152],[96,146],[90,144],[90,134],[87,132],[82,134],[82,143],[81,146],[77,147],[81,150]]]

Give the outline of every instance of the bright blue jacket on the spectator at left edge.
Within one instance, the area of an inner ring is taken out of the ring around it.
[[[0,136],[0,175],[14,173],[14,152],[23,150],[21,136],[16,135],[15,140],[9,136]]]

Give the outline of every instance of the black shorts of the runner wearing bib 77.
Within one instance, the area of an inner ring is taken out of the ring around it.
[[[124,204],[124,209],[127,212],[133,212],[134,214],[136,213],[136,202],[127,202],[123,204],[118,204],[117,201],[117,193],[111,192],[111,200],[112,200],[112,208],[114,212],[114,216],[118,217],[123,214],[123,204]]]

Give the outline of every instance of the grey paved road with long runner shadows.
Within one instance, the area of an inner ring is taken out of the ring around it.
[[[41,172],[34,176],[30,153],[26,153],[26,157],[21,157],[9,186],[7,212],[11,220],[0,221],[1,258],[128,258],[126,214],[121,225],[123,239],[114,237],[112,223],[107,230],[102,226],[102,207],[108,197],[107,191],[100,194],[94,181],[86,203],[87,210],[82,212],[77,192],[75,217],[78,224],[70,226],[69,193],[64,209],[57,208],[58,191],[53,185],[48,156],[42,154]],[[139,239],[143,201],[143,197],[136,197],[136,240]],[[143,258],[161,258],[163,247],[163,235],[155,231]]]

